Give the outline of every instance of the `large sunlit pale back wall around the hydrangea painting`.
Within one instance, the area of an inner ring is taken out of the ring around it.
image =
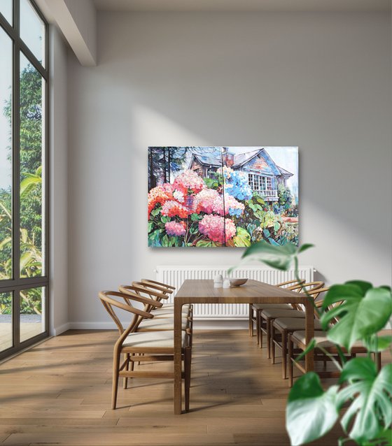
[[[389,282],[390,31],[382,13],[100,14],[98,66],[69,57],[72,326],[158,264],[241,256],[147,247],[148,145],[298,145],[302,263]]]

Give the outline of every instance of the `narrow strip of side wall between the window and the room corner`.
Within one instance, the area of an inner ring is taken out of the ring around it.
[[[68,314],[68,117],[67,50],[50,26],[50,334],[69,327]]]

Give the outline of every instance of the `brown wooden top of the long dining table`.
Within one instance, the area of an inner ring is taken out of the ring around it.
[[[214,288],[214,280],[185,280],[174,297],[181,303],[304,303],[304,294],[248,280],[241,287]]]

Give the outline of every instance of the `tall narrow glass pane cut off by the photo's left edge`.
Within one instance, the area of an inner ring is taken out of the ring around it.
[[[12,41],[0,28],[0,280],[12,278]]]

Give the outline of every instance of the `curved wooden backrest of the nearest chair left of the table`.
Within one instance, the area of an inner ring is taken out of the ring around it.
[[[132,329],[136,329],[140,321],[145,317],[147,319],[153,318],[153,315],[151,315],[151,313],[146,312],[144,310],[139,310],[139,308],[135,308],[132,305],[132,300],[139,301],[139,299],[132,298],[130,294],[125,294],[116,291],[102,291],[99,292],[98,296],[101,299],[104,308],[106,309],[107,312],[109,312],[109,315],[111,316],[116,326],[118,327],[120,335],[124,333],[125,329],[120,321],[120,318],[116,314],[115,308],[119,308],[120,310],[125,310],[133,314],[130,326],[128,326],[128,329],[130,329],[130,331],[132,331]],[[116,300],[115,297],[120,298],[121,300]]]

